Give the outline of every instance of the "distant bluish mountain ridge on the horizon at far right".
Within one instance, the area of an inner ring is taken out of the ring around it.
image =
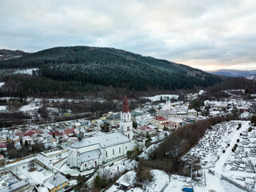
[[[218,74],[229,77],[246,77],[256,75],[256,70],[212,70],[208,71],[210,74]]]

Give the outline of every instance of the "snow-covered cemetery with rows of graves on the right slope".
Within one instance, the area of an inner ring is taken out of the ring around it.
[[[250,127],[249,123],[248,121],[231,121],[212,126],[211,130],[206,131],[198,145],[190,150],[183,159],[192,161],[198,157],[201,159],[202,168],[206,172],[208,168],[213,170],[214,177],[217,177],[218,180],[221,175],[224,175],[242,186],[255,190],[256,175],[252,162],[256,162],[254,150],[256,147],[256,130],[247,134]],[[238,124],[242,125],[240,129],[237,129]],[[232,152],[235,144],[238,145],[236,153]],[[250,158],[250,156],[252,157]],[[210,174],[207,173],[206,176],[210,177]],[[238,177],[245,178],[245,181],[238,180]],[[225,190],[218,189],[217,191]]]

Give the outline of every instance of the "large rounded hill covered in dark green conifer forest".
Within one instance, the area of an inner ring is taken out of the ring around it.
[[[79,82],[128,90],[176,90],[210,86],[214,74],[124,50],[89,46],[55,47],[0,62],[1,69],[38,68],[37,75],[58,82]]]

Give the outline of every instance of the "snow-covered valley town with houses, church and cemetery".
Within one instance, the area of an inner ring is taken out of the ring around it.
[[[188,94],[188,102],[179,101],[178,95],[148,97],[134,110],[130,110],[125,96],[120,112],[108,112],[99,118],[3,128],[0,192],[77,191],[81,179],[92,189],[98,177],[107,178],[109,185],[104,188],[108,192],[176,192],[186,187],[194,191],[255,191],[256,129],[250,119],[256,99],[244,100],[235,94],[241,91],[228,90],[229,98],[205,100],[197,110],[191,108],[191,101],[203,95],[203,90]],[[20,110],[34,114],[41,105],[40,100],[34,101]],[[2,113],[7,110],[5,106],[1,109]],[[240,120],[211,126],[182,156],[189,162],[184,169],[191,176],[153,169],[152,179],[138,182],[138,159],[150,158],[152,151],[175,131],[229,114],[238,115]]]

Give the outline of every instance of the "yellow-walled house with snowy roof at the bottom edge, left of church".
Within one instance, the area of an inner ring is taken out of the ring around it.
[[[61,174],[54,174],[50,176],[50,178],[46,178],[46,180],[43,181],[43,185],[47,187],[49,192],[55,192],[67,186],[68,181],[69,180]]]

